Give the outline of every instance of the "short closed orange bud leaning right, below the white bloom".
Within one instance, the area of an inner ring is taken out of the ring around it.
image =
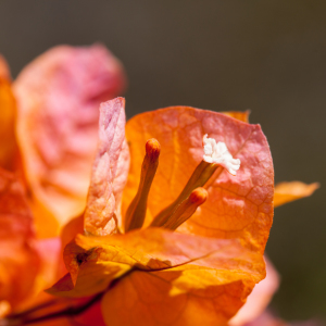
[[[175,230],[184,222],[192,216],[197,208],[206,201],[208,191],[204,188],[195,189],[190,196],[181,202],[171,214],[170,218],[161,227]]]

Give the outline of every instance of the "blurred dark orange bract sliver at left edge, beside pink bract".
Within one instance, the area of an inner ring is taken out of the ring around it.
[[[0,57],[0,166],[13,171],[17,155],[14,131],[16,103],[10,84],[9,70]]]

